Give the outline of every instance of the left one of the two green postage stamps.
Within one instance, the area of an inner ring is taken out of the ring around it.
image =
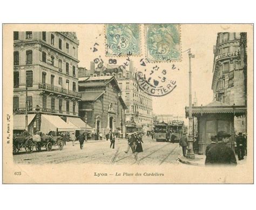
[[[139,24],[106,24],[106,55],[140,55]]]

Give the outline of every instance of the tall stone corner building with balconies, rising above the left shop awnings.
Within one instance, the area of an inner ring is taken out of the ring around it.
[[[72,117],[80,122],[78,45],[75,32],[14,32],[14,115],[19,119],[14,130],[24,129],[26,99],[31,132],[46,132],[51,125],[63,130],[58,122],[69,122]],[[51,116],[62,117],[63,122]],[[46,118],[51,122],[44,122]]]

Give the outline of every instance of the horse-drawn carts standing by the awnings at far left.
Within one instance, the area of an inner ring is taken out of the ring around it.
[[[14,136],[12,153],[15,155],[22,148],[25,149],[26,153],[31,153],[34,146],[36,151],[41,151],[43,147],[47,151],[51,151],[52,146],[58,146],[59,150],[62,150],[64,142],[62,137],[55,135],[54,131],[50,131],[47,135],[39,132],[33,136],[29,132],[24,131],[23,134]]]

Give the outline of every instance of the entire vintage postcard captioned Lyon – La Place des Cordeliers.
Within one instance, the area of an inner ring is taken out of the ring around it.
[[[252,184],[253,24],[3,24],[3,183]]]

